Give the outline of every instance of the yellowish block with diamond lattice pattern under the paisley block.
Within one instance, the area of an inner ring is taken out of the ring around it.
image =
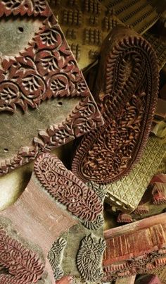
[[[139,163],[126,177],[109,185],[101,185],[107,190],[106,202],[124,211],[133,211],[141,202],[153,175],[158,171],[165,156],[166,145],[156,137],[150,137]]]

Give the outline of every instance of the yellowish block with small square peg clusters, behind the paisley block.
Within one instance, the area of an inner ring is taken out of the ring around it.
[[[98,0],[49,1],[70,48],[84,69],[96,61],[101,51],[101,44],[108,32],[120,23],[120,20],[107,13],[107,9]]]

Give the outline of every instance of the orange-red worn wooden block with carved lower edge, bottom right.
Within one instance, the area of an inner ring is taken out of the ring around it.
[[[166,264],[166,214],[106,230],[103,281],[151,273]]]

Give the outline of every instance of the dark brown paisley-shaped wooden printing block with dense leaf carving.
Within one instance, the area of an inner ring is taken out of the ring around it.
[[[104,125],[84,135],[72,171],[108,184],[139,161],[151,130],[158,94],[158,64],[148,42],[118,25],[103,42],[94,97]]]

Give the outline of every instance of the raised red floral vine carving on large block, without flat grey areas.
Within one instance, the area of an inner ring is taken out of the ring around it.
[[[15,147],[15,154],[1,159],[0,175],[31,161],[41,149],[58,147],[103,124],[82,72],[46,1],[0,1],[0,18],[22,16],[41,17],[42,27],[27,47],[18,51],[18,56],[1,56],[0,112],[7,111],[11,118],[10,114],[14,116],[18,109],[24,115],[28,109],[37,109],[48,99],[78,98],[79,101],[64,121],[55,124],[52,119],[54,124],[37,130],[37,137],[36,132],[30,133],[30,144]],[[49,110],[47,115],[51,116]],[[15,137],[17,139],[19,135]]]

